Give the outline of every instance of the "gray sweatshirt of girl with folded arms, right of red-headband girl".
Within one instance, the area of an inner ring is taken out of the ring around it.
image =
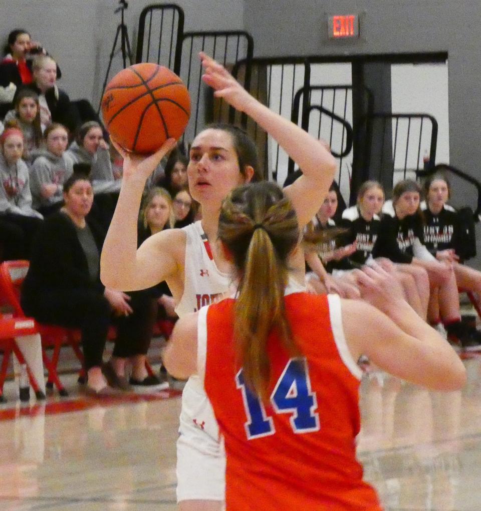
[[[73,174],[74,162],[63,153],[55,156],[47,149],[38,149],[32,153],[33,165],[30,169],[30,190],[33,207],[50,206],[63,199],[63,183]],[[49,198],[42,197],[43,184],[56,184],[57,191]]]

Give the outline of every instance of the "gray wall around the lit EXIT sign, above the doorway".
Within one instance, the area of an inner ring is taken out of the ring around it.
[[[327,13],[364,13],[362,39],[328,40]],[[447,51],[451,164],[481,178],[479,0],[245,0],[244,18],[256,56]]]

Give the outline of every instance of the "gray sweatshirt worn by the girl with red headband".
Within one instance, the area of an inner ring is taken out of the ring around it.
[[[32,208],[29,172],[24,160],[8,165],[0,154],[0,213],[43,218]]]

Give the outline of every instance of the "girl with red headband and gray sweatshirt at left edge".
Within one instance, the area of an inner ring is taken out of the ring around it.
[[[24,135],[19,128],[7,128],[0,136],[0,218],[18,229],[24,245],[21,257],[29,259],[30,244],[42,216],[32,208],[29,171],[21,159]]]

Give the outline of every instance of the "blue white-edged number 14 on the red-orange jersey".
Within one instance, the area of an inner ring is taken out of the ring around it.
[[[246,410],[247,438],[260,438],[275,433],[272,417],[268,417],[260,399],[252,393],[244,381],[243,369],[235,377],[241,389]],[[311,390],[309,369],[305,358],[292,358],[282,371],[272,391],[270,401],[276,413],[290,413],[294,433],[310,433],[319,430],[319,415],[316,413],[316,394]]]

